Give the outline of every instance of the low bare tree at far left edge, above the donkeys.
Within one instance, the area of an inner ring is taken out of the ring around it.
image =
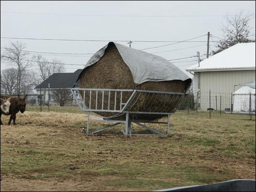
[[[1,92],[7,95],[17,94],[17,69],[9,68],[1,71]]]

